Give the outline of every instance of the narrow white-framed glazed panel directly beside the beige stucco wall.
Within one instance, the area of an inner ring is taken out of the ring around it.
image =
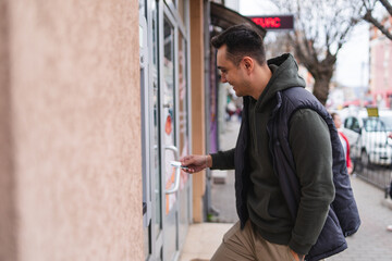
[[[161,98],[159,88],[160,59],[158,30],[159,2],[155,0],[139,1],[143,223],[144,252],[145,260],[148,261],[163,260],[164,189],[161,170]]]

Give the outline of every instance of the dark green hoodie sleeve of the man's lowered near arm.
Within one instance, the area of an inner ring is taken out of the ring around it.
[[[332,145],[327,123],[310,109],[295,112],[289,127],[301,183],[301,202],[289,245],[306,254],[316,244],[334,198]]]

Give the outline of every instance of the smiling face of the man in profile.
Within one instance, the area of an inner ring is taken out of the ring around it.
[[[236,66],[231,60],[228,59],[225,45],[218,49],[217,65],[221,72],[222,83],[229,83],[233,87],[237,97],[247,95],[244,78],[245,72],[242,69],[241,63],[238,66]]]

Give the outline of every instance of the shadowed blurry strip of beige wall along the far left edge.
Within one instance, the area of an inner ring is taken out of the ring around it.
[[[16,260],[16,204],[11,122],[9,4],[0,0],[0,260]]]

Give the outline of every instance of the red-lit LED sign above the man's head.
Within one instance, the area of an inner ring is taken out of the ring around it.
[[[265,29],[294,29],[294,15],[248,16]]]

